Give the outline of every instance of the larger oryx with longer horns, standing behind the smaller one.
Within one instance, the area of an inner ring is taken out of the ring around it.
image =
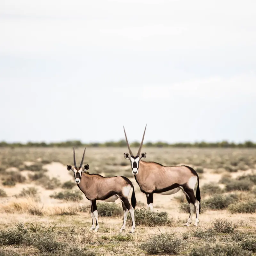
[[[190,214],[186,225],[189,226],[189,224],[192,223],[191,220],[194,213],[194,208],[196,208],[195,226],[197,226],[197,224],[199,223],[199,212],[201,208],[198,174],[193,168],[186,165],[164,166],[156,162],[145,162],[140,160],[141,158],[146,157],[146,153],[142,153],[140,155],[146,127],[140,143],[140,148],[136,156],[134,156],[132,153],[124,129],[125,140],[130,153],[130,155],[128,153],[124,153],[124,157],[126,159],[129,159],[131,162],[132,174],[134,175],[135,180],[139,184],[141,192],[145,193],[147,196],[148,208],[150,208],[151,210],[153,209],[154,193],[171,195],[177,193],[180,189],[182,189],[190,205]],[[195,196],[194,189],[196,186],[196,182],[197,188]]]

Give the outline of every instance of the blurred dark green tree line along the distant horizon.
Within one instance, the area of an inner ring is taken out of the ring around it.
[[[135,141],[130,143],[131,147],[139,147],[140,142]],[[0,147],[127,147],[125,140],[119,141],[107,141],[104,143],[82,143],[80,140],[68,140],[65,142],[54,142],[54,143],[45,143],[45,142],[28,142],[28,143],[7,143],[0,142]],[[245,141],[244,143],[234,143],[228,141],[221,142],[195,142],[195,143],[167,143],[167,142],[145,142],[143,144],[145,147],[157,147],[157,148],[256,148],[256,143],[252,141]]]

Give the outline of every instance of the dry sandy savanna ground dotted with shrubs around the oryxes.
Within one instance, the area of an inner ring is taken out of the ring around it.
[[[144,148],[146,161],[186,164],[200,177],[200,223],[185,227],[180,191],[154,196],[154,212],[132,177],[126,148],[87,148],[90,173],[124,175],[134,184],[136,230],[120,200],[100,203],[99,231],[74,183],[72,148],[0,148],[0,255],[253,255],[256,253],[256,149]],[[134,148],[134,151],[136,149]],[[80,163],[83,148],[76,149]],[[131,194],[131,193],[130,193]],[[131,195],[130,195],[131,196]]]

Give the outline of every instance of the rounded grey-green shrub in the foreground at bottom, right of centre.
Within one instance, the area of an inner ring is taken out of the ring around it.
[[[152,236],[147,242],[140,245],[140,249],[150,254],[168,253],[176,255],[184,248],[184,243],[173,234],[161,234]]]

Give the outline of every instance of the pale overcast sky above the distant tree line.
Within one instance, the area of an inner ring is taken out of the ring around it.
[[[0,141],[256,141],[256,1],[0,1]]]

